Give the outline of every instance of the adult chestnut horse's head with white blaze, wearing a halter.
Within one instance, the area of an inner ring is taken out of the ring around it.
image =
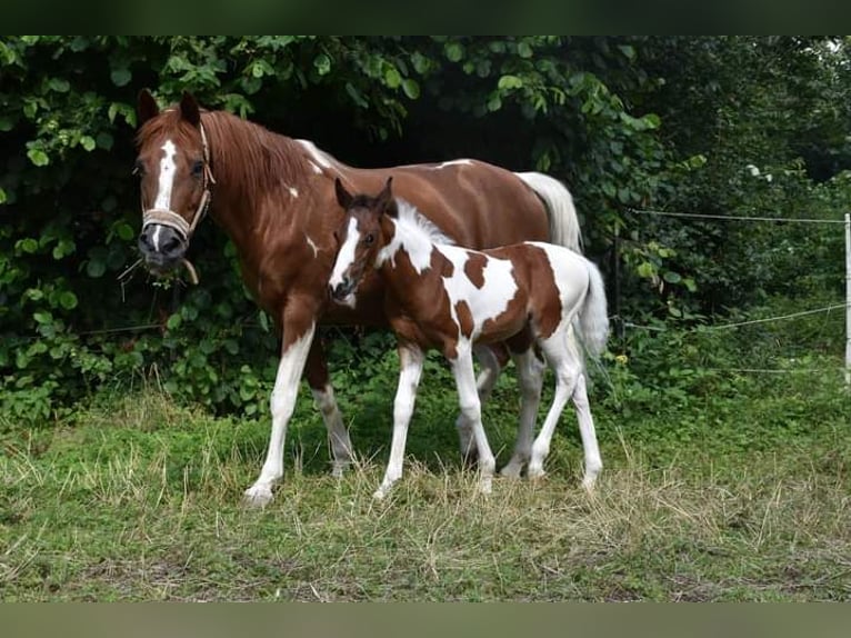
[[[139,157],[142,230],[139,249],[146,266],[162,275],[184,261],[196,225],[210,203],[210,153],[194,98],[159,110],[147,90],[139,94]]]

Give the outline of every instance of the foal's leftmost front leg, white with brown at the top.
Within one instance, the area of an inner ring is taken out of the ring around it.
[[[417,399],[417,387],[422,376],[423,353],[412,343],[399,343],[399,387],[393,402],[393,439],[390,445],[390,460],[381,485],[372,495],[381,499],[387,496],[393,484],[402,476],[404,461],[404,445],[408,438],[408,425],[413,415],[413,403]]]

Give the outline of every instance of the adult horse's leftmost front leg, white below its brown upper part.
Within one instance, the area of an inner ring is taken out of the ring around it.
[[[262,506],[271,501],[272,485],[283,476],[283,442],[287,425],[296,408],[301,373],[304,370],[304,361],[317,327],[316,312],[309,301],[301,299],[291,301],[287,308],[281,326],[283,333],[281,360],[278,363],[278,375],[274,378],[270,401],[272,431],[269,436],[269,449],[260,476],[254,485],[246,490],[246,500],[253,506]]]

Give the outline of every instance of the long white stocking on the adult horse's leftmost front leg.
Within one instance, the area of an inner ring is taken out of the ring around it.
[[[269,449],[260,476],[254,485],[246,490],[246,497],[250,505],[262,506],[271,501],[272,485],[283,476],[283,443],[287,437],[287,425],[296,408],[299,381],[301,381],[301,373],[304,371],[304,361],[307,361],[314,331],[316,323],[311,323],[304,335],[292,342],[281,355],[270,401],[272,431],[269,436]]]

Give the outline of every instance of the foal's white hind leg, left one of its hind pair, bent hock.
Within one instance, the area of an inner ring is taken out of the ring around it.
[[[555,432],[555,426],[559,425],[564,405],[573,395],[579,376],[582,373],[581,360],[577,356],[575,347],[568,342],[567,330],[558,330],[541,341],[541,348],[547,362],[555,372],[555,392],[543,427],[532,443],[532,456],[527,471],[529,478],[543,476],[543,461],[550,453],[550,442]]]

